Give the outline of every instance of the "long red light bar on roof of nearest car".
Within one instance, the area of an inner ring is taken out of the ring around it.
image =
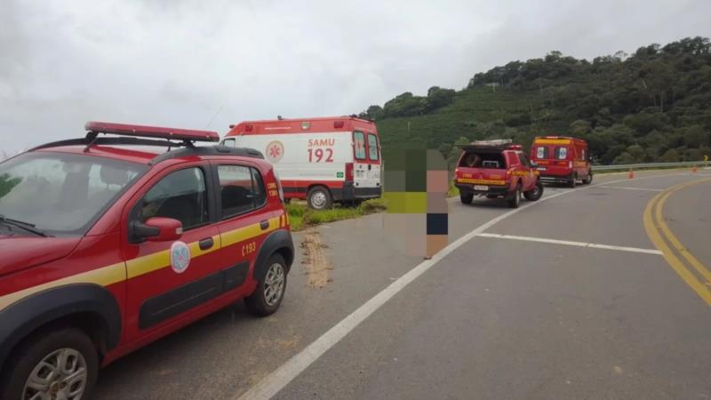
[[[111,124],[90,121],[84,125],[84,129],[95,133],[111,133],[123,136],[139,136],[142,138],[161,138],[186,141],[220,141],[220,135],[217,132],[163,128],[159,126]]]

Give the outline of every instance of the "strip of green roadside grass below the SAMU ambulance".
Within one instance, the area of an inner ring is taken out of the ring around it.
[[[349,220],[385,210],[387,210],[387,205],[382,198],[366,200],[358,205],[333,204],[333,207],[329,210],[312,210],[308,208],[306,202],[297,200],[292,200],[292,202],[286,204],[286,212],[289,212],[289,221],[293,231],[299,231],[325,222]]]

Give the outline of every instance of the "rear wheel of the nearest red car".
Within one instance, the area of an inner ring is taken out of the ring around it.
[[[244,299],[247,310],[255,316],[271,316],[281,306],[286,292],[286,261],[279,254],[267,260],[267,270],[257,283],[257,289]],[[276,292],[272,292],[276,291]]]

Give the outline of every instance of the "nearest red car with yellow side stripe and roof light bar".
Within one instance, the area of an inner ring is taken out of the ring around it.
[[[259,151],[86,130],[0,163],[3,400],[91,399],[100,366],[236,300],[268,316],[284,298],[289,218]]]

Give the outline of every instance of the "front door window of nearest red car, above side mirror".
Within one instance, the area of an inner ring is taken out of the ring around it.
[[[152,217],[180,220],[185,230],[208,222],[203,170],[188,168],[172,172],[148,190],[140,202],[139,220],[145,222]]]

